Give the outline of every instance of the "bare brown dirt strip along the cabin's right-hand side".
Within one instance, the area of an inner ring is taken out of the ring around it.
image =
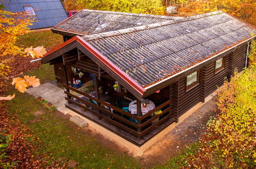
[[[164,164],[185,146],[202,138],[207,128],[207,121],[216,114],[215,102],[214,97],[177,125],[162,141],[151,146],[141,157],[143,167],[151,168],[157,164]]]

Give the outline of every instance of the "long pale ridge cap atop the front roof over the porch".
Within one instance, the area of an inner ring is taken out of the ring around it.
[[[161,23],[155,23],[155,24],[143,25],[143,26],[121,29],[121,30],[116,30],[116,31],[87,35],[87,36],[83,36],[82,38],[84,40],[94,40],[94,39],[100,39],[100,38],[105,38],[105,37],[110,37],[110,36],[117,36],[117,35],[122,35],[122,34],[126,34],[126,33],[142,31],[142,30],[152,29],[152,28],[156,28],[156,27],[171,25],[171,24],[182,23],[182,22],[186,22],[188,20],[195,20],[195,19],[199,19],[199,18],[203,18],[203,17],[207,17],[207,16],[218,15],[218,14],[222,14],[222,13],[225,13],[225,12],[214,11],[214,12],[200,14],[200,15],[188,16],[188,17],[184,17],[184,18],[181,18],[178,20],[168,20],[168,21],[164,21]]]

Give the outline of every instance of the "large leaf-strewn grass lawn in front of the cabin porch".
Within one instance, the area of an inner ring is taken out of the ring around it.
[[[27,93],[17,93],[9,105],[11,113],[33,132],[36,138],[33,144],[38,147],[34,154],[47,154],[50,156],[46,159],[49,164],[52,160],[59,160],[60,163],[73,160],[78,163],[78,168],[139,167],[135,158],[102,145],[89,131],[79,129],[62,115],[47,111]],[[45,114],[34,116],[32,112],[37,110]]]

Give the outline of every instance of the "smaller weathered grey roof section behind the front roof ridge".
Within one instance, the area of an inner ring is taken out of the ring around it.
[[[182,17],[83,9],[52,30],[92,35],[180,18]]]

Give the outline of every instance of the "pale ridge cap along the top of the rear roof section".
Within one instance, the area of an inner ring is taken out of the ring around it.
[[[129,16],[153,17],[153,18],[162,18],[162,19],[175,19],[175,18],[176,19],[181,19],[181,18],[183,18],[183,17],[178,17],[178,16],[153,15],[153,14],[116,12],[116,11],[102,11],[102,10],[92,10],[92,9],[83,9],[82,11],[97,12],[97,13],[109,13],[109,14],[120,14],[120,15],[129,15]]]

